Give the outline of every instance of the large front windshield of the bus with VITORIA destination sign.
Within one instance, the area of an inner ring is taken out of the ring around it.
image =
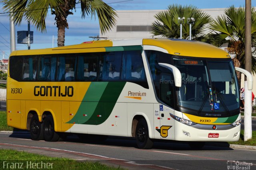
[[[204,112],[226,112],[239,108],[239,91],[232,61],[173,58],[182,75],[178,89],[181,107]]]

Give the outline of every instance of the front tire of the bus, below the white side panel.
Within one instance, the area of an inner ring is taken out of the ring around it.
[[[151,149],[153,146],[152,140],[148,136],[148,124],[145,119],[140,119],[136,126],[135,138],[138,148]]]

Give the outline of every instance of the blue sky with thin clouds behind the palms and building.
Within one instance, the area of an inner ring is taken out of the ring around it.
[[[244,7],[245,0],[103,0],[115,10],[165,10],[169,5],[181,4],[182,6],[193,5],[199,9],[205,8],[228,8]],[[2,8],[3,3],[0,2],[0,13],[5,12]],[[256,7],[256,0],[252,0],[252,6]],[[79,44],[90,41],[89,36],[98,36],[100,28],[97,18],[91,16],[82,19],[79,5],[74,15],[69,15],[68,25],[65,33],[65,45]],[[30,30],[34,32],[34,41],[31,49],[57,47],[57,28],[54,25],[54,16],[48,12],[46,18],[46,32],[37,32],[36,28],[31,25]],[[15,26],[16,31],[16,50],[28,49],[26,44],[17,44],[17,31],[26,31],[28,29],[27,21],[23,21],[20,26]],[[53,38],[54,36],[54,38]],[[54,43],[52,43],[54,42]],[[0,59],[8,58],[10,55],[10,17],[8,14],[0,14]]]

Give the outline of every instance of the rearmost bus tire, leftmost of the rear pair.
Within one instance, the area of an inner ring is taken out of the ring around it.
[[[39,122],[36,114],[32,116],[30,121],[30,138],[32,140],[44,140],[43,123]]]

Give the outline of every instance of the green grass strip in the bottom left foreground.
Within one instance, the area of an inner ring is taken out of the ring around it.
[[[56,158],[32,154],[24,151],[0,149],[0,167],[4,169],[53,169],[53,170],[117,170],[91,161],[76,161],[68,158]],[[21,167],[22,166],[22,167]],[[46,167],[48,166],[48,167]]]

